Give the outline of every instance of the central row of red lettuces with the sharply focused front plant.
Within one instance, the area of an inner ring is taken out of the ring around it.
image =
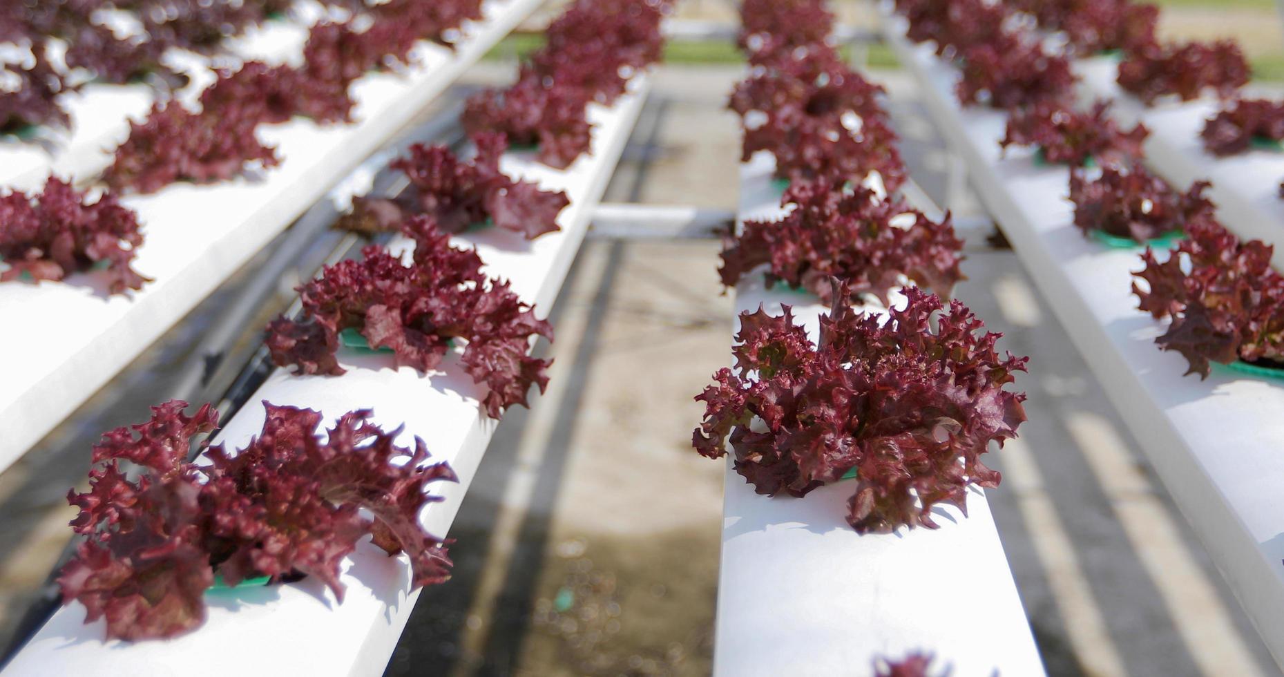
[[[727,288],[764,275],[829,306],[813,340],[790,306],[740,315],[734,369],[696,397],[693,434],[710,459],[767,496],[802,497],[851,479],[858,533],[937,528],[933,506],[967,511],[969,487],[998,487],[981,456],[1016,437],[1026,358],[949,298],[963,242],[898,193],[907,170],[883,90],[849,68],[823,0],[746,0],[750,75],[731,96],[743,161],[770,153],[786,211],[746,221],[722,252]],[[899,297],[894,301],[894,295]],[[802,301],[806,303],[806,301]],[[858,310],[859,308],[859,310]],[[877,674],[924,674],[931,658],[876,658]]]

